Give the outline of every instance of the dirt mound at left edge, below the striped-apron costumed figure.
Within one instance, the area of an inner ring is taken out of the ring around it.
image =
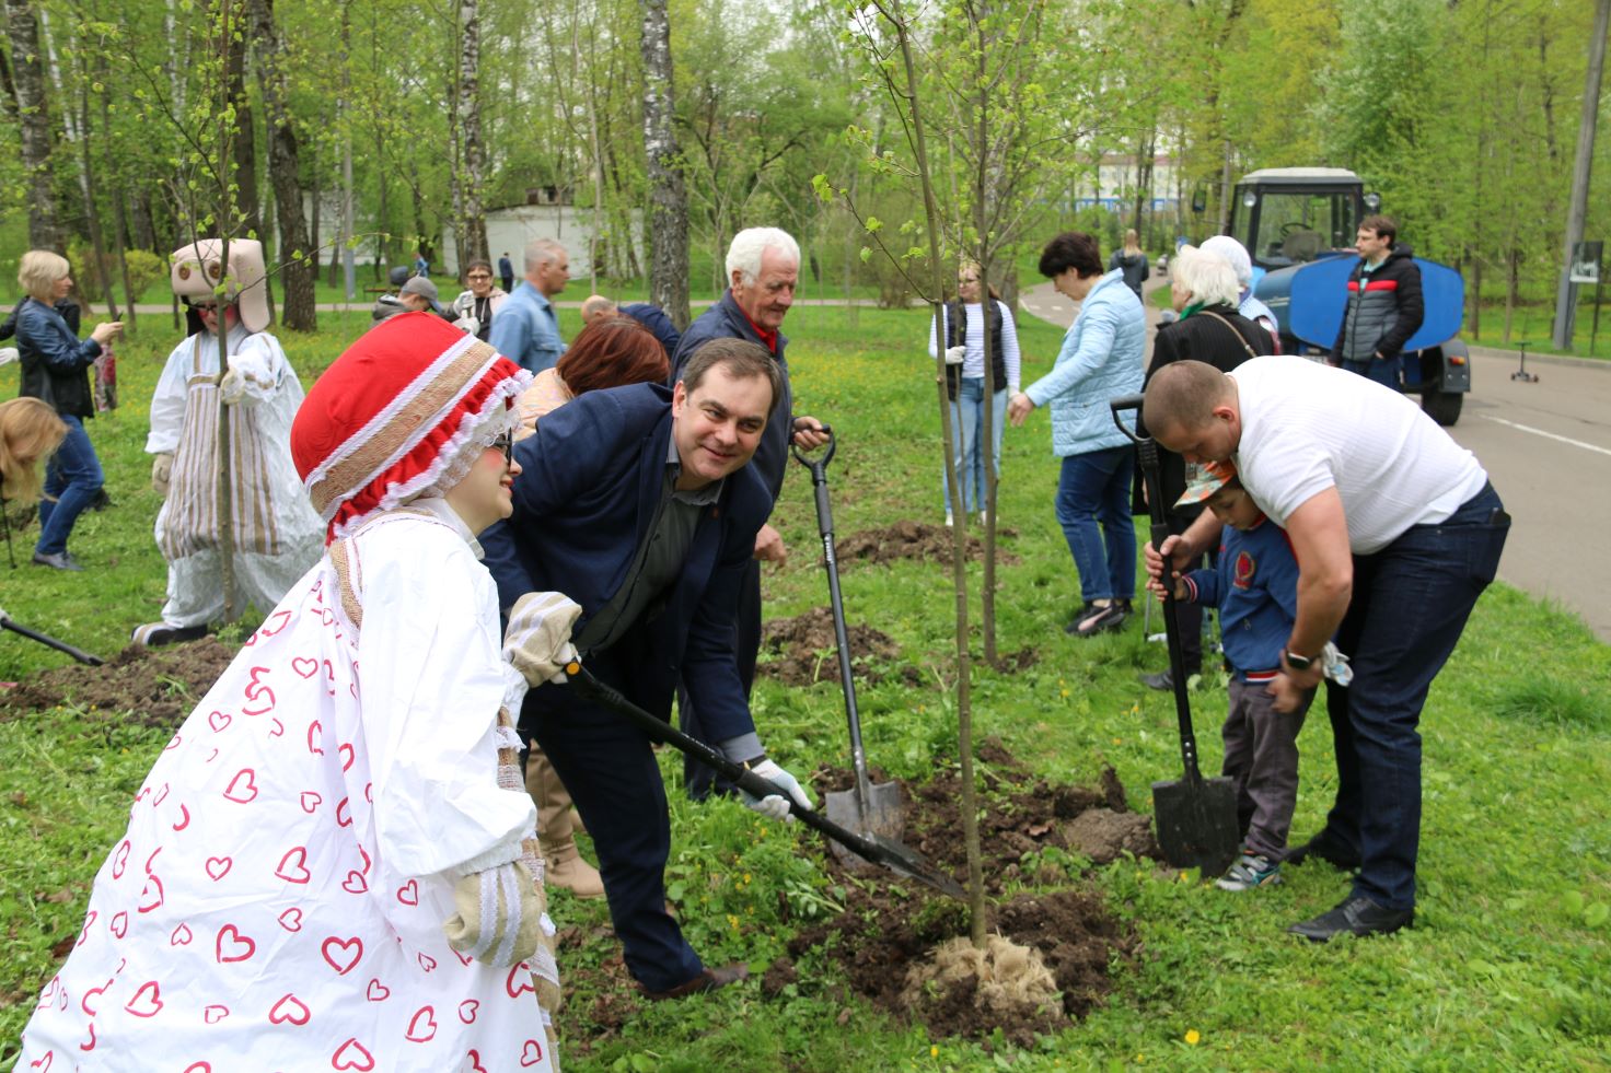
[[[147,727],[176,727],[234,657],[234,648],[211,636],[169,648],[130,644],[100,667],[56,667],[0,691],[0,719],[72,704],[129,712]]]

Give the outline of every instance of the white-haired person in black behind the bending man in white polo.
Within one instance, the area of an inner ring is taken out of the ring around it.
[[[1237,313],[1240,296],[1242,288],[1229,261],[1197,246],[1181,246],[1170,266],[1170,298],[1179,319],[1158,329],[1158,337],[1152,343],[1152,362],[1147,366],[1147,382],[1152,382],[1158,369],[1176,361],[1203,361],[1221,372],[1231,372],[1249,358],[1273,354],[1269,332]],[[1182,533],[1197,520],[1202,508],[1174,508],[1186,491],[1186,462],[1179,454],[1160,448],[1158,466],[1170,532]],[[1137,514],[1147,512],[1139,482],[1133,506]],[[1176,603],[1174,622],[1179,625],[1186,673],[1199,673],[1203,662],[1202,606]],[[1168,669],[1142,675],[1141,680],[1153,690],[1174,688]]]

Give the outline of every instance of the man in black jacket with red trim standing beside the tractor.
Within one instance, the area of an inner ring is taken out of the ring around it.
[[[1360,263],[1348,276],[1348,306],[1331,348],[1331,362],[1398,390],[1398,353],[1421,327],[1421,269],[1410,246],[1398,245],[1390,216],[1360,221]]]

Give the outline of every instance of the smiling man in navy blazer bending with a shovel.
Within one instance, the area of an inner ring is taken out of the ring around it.
[[[741,340],[701,350],[673,390],[588,392],[514,448],[514,516],[482,545],[506,612],[527,593],[564,593],[594,675],[661,719],[681,680],[710,743],[809,806],[762,751],[733,657],[739,583],[772,509],[749,459],[778,396],[772,358]],[[520,620],[516,609],[511,644]],[[533,686],[520,738],[543,746],[593,835],[633,978],[651,999],[743,978],[743,965],[706,968],[665,910],[670,818],[649,738],[564,685]],[[748,804],[788,812],[780,794]]]

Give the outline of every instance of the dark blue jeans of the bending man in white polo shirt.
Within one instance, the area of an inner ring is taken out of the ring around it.
[[[1337,630],[1353,683],[1326,683],[1337,802],[1323,836],[1358,856],[1353,893],[1387,909],[1414,909],[1421,707],[1498,570],[1508,532],[1510,516],[1489,485],[1448,520],[1413,525],[1353,557],[1353,599]]]

